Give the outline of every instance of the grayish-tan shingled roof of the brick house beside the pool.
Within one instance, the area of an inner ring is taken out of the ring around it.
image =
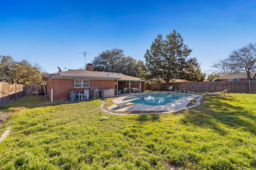
[[[100,71],[89,71],[84,69],[68,70],[64,72],[56,72],[51,74],[43,75],[45,82],[52,78],[60,79],[90,79],[90,80],[119,80],[119,81],[140,81],[145,80],[133,76],[127,76],[125,74],[116,72],[100,72]]]

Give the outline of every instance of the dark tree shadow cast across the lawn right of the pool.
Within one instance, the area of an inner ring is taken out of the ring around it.
[[[252,123],[256,122],[256,114],[251,113],[245,107],[227,104],[225,100],[237,102],[234,98],[208,97],[196,109],[186,111],[185,117],[180,121],[184,124],[192,123],[212,127],[221,135],[227,132],[218,123],[233,129],[242,128],[244,131],[256,134],[256,125]]]

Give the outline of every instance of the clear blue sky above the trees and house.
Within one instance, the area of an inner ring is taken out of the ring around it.
[[[123,49],[144,61],[160,33],[175,29],[203,72],[256,43],[255,0],[2,0],[0,55],[47,72],[79,69],[99,53]],[[86,60],[83,52],[86,51]]]

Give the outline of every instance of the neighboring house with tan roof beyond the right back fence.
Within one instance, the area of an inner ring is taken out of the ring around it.
[[[251,78],[253,78],[256,71],[251,71]],[[220,80],[224,82],[232,82],[232,81],[245,81],[247,79],[246,72],[233,72],[233,73],[224,73],[220,76]]]

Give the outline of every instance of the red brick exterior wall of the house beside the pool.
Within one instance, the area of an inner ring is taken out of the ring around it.
[[[90,87],[97,87],[99,90],[115,88],[115,80],[90,80]],[[47,82],[47,96],[51,98],[51,89],[53,89],[53,101],[60,99],[69,99],[69,92],[84,93],[85,89],[90,88],[74,88],[74,80],[72,79],[51,79]],[[90,96],[91,94],[90,90]],[[101,92],[99,93],[101,97]]]

